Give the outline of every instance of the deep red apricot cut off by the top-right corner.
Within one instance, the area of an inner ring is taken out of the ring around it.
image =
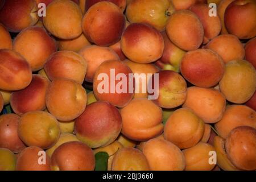
[[[256,35],[256,2],[235,0],[226,7],[224,21],[229,34],[239,39],[250,39]]]

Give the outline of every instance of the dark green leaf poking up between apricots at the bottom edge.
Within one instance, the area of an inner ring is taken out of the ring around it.
[[[98,152],[95,154],[95,171],[107,171],[109,154],[107,152]]]

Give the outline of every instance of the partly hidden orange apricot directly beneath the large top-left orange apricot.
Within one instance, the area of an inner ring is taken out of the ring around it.
[[[84,34],[74,39],[58,39],[57,46],[59,51],[79,52],[81,48],[89,46],[90,42],[85,38]]]

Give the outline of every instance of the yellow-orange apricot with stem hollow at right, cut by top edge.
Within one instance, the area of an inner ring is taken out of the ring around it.
[[[148,23],[163,31],[174,11],[174,6],[169,0],[137,0],[129,3],[126,16],[131,23]]]

